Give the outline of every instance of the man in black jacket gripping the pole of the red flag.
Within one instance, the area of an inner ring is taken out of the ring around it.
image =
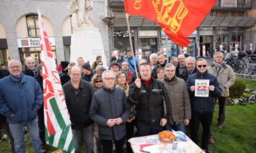
[[[149,63],[140,66],[140,78],[129,87],[129,103],[136,104],[138,136],[158,134],[167,123],[169,97],[161,81],[151,77]]]

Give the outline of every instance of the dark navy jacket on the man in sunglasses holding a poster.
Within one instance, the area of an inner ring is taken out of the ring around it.
[[[195,86],[195,80],[210,80],[209,86],[215,86],[215,90],[209,90],[209,97],[195,97],[194,91],[192,92],[190,90],[190,86]],[[196,72],[188,77],[187,88],[188,94],[190,94],[192,112],[197,112],[199,114],[214,112],[215,97],[219,97],[222,92],[221,86],[219,86],[219,82],[214,75],[207,71],[203,74]]]

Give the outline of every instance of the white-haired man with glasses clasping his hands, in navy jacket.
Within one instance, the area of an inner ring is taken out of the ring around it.
[[[91,101],[90,117],[99,126],[99,138],[104,152],[112,152],[113,140],[116,152],[124,152],[126,140],[126,120],[130,115],[123,89],[115,87],[115,72],[102,73],[103,87],[94,92]]]

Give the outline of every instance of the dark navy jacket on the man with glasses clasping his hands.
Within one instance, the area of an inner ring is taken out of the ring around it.
[[[99,138],[104,140],[120,140],[126,135],[126,120],[130,115],[130,106],[127,103],[123,89],[114,87],[94,92],[89,113],[91,120],[98,123]],[[112,127],[106,125],[108,119],[122,118],[123,123]]]

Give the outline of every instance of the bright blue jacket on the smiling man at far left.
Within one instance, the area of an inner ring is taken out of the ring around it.
[[[0,80],[0,113],[7,117],[8,123],[29,123],[37,117],[43,103],[37,80],[23,73],[21,77],[21,81],[13,75]],[[15,115],[11,117],[12,114]]]

